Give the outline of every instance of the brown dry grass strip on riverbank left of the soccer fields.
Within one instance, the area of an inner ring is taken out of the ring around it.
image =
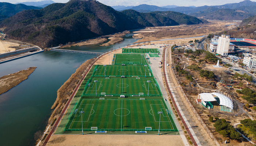
[[[84,75],[84,72],[88,69],[89,65],[95,60],[96,58],[89,59],[85,61],[83,64],[76,69],[76,72],[73,73],[70,78],[61,86],[61,88],[57,91],[57,98],[52,105],[51,109],[55,109],[52,112],[51,117],[49,118],[48,122],[50,123],[52,119],[59,114],[61,110],[61,105],[64,104],[66,99],[70,98],[70,93],[74,90],[79,80]]]

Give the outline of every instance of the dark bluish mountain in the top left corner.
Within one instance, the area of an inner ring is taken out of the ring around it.
[[[0,20],[6,19],[16,13],[26,9],[41,9],[39,7],[28,6],[25,4],[11,4],[11,3],[0,3]]]

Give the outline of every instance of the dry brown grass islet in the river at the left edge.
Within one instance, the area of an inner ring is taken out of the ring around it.
[[[0,94],[7,92],[11,88],[17,86],[22,81],[28,79],[28,76],[34,72],[36,67],[30,67],[17,73],[9,74],[0,78]]]

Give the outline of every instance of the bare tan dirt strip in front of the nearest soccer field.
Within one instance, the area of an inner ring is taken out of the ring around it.
[[[47,146],[183,146],[179,135],[53,135]]]

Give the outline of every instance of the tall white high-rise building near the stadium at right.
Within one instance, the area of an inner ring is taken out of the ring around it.
[[[229,35],[221,35],[219,37],[219,42],[217,46],[217,54],[220,54],[222,56],[227,56],[228,54],[228,48],[230,43],[230,36]]]

